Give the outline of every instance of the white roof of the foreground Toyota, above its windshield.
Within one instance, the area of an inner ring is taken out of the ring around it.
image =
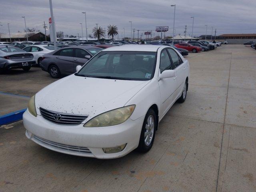
[[[158,48],[162,45],[122,45],[122,46],[113,46],[107,50],[102,51],[148,51],[148,52],[157,52]],[[167,47],[167,46],[166,46]]]

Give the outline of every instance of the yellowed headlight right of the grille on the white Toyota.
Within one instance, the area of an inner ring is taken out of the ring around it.
[[[102,113],[89,120],[84,127],[105,127],[125,122],[134,111],[136,105],[130,105]]]

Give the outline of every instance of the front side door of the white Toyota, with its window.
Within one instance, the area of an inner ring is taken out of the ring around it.
[[[160,54],[159,75],[165,70],[172,70],[172,62],[167,49],[162,50]],[[163,116],[174,103],[174,92],[177,88],[176,77],[163,78],[158,81],[161,96],[160,114]]]

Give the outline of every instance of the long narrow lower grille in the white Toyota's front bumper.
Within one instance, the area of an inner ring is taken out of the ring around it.
[[[73,146],[73,145],[60,144],[60,143],[48,141],[48,140],[40,138],[38,136],[34,136],[34,138],[43,142],[43,143],[45,143],[45,144],[48,144],[48,145],[51,145],[51,146],[54,146],[54,147],[58,147],[58,148],[62,148],[62,149],[65,149],[65,150],[91,153],[91,151],[87,147],[79,147],[79,146]]]

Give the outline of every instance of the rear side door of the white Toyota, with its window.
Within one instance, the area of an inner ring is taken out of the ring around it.
[[[175,50],[170,48],[167,50],[172,61],[172,69],[176,72],[177,88],[174,92],[174,100],[176,100],[180,96],[184,87],[184,82],[186,80],[186,65]]]

